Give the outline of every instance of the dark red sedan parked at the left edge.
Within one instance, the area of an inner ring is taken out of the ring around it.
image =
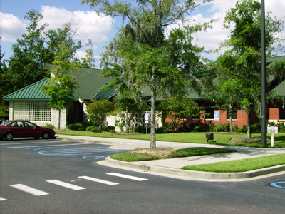
[[[0,140],[11,141],[13,138],[28,137],[48,139],[55,134],[53,129],[43,128],[29,121],[6,121],[0,124]]]

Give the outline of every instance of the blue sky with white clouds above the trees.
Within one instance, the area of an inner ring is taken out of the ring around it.
[[[198,0],[199,1],[199,0]],[[285,1],[284,0],[264,0],[266,11],[272,11],[271,16],[284,18]],[[212,29],[207,32],[199,32],[195,35],[195,43],[204,46],[206,50],[213,50],[219,47],[219,43],[227,39],[230,31],[224,29],[222,22],[226,12],[234,7],[237,0],[214,0],[196,11],[193,11],[191,20],[203,23],[211,19],[217,19]],[[48,23],[48,29],[56,29],[71,22],[73,29],[78,29],[77,39],[86,42],[87,39],[93,41],[93,53],[97,59],[96,64],[100,63],[100,54],[103,47],[113,39],[117,28],[122,25],[120,17],[113,19],[110,16],[101,14],[98,16],[88,4],[81,4],[81,0],[2,0],[0,1],[0,36],[1,52],[5,59],[11,56],[12,44],[16,39],[21,39],[21,35],[26,33],[28,22],[24,19],[26,13],[32,9],[40,12],[43,19],[39,25]],[[285,24],[284,24],[285,29]],[[278,35],[285,39],[285,33]],[[76,56],[83,57],[84,48],[78,50]],[[277,53],[285,55],[285,53]],[[206,54],[204,57],[215,59],[218,54]]]

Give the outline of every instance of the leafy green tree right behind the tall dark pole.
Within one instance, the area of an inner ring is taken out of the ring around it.
[[[280,47],[276,34],[282,31],[283,24],[270,14],[268,11],[265,19],[267,56]],[[261,109],[261,4],[254,0],[237,1],[235,7],[227,11],[224,27],[231,29],[231,34],[222,44],[229,50],[219,56],[219,74],[242,81],[245,91],[242,105],[248,115],[247,137],[251,137],[251,112],[255,111],[260,117]]]

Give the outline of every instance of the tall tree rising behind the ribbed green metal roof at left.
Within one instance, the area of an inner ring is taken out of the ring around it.
[[[12,73],[14,91],[48,76],[46,71],[40,70],[43,63],[53,60],[51,58],[46,60],[48,49],[44,46],[43,31],[48,24],[38,26],[42,18],[43,16],[37,11],[29,11],[24,16],[24,19],[30,22],[26,28],[27,33],[22,35],[22,39],[17,39],[12,46],[13,54],[9,58],[9,71]]]

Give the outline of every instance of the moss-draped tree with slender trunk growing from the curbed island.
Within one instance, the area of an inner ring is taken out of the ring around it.
[[[167,27],[183,21],[197,6],[211,0],[188,1],[108,1],[83,0],[98,12],[128,19],[120,32],[121,40],[107,62],[120,58],[123,76],[133,77],[135,88],[147,88],[151,93],[150,148],[155,148],[155,101],[157,95],[182,91],[189,86],[193,70],[201,68],[197,54],[201,51],[191,44],[194,28],[173,30]],[[196,29],[197,30],[197,29]],[[108,63],[105,64],[105,66]],[[139,90],[135,90],[139,91]]]

